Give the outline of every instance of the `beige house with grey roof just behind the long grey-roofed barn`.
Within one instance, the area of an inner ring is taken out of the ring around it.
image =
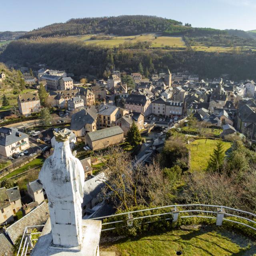
[[[128,111],[112,105],[101,105],[98,110],[98,129],[115,126],[116,120],[124,114],[128,114]]]

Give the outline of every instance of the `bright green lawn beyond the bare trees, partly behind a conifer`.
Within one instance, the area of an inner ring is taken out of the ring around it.
[[[205,139],[194,140],[188,145],[191,152],[191,164],[190,170],[205,170],[207,167],[208,159],[212,154],[218,140],[207,140]],[[231,142],[223,142],[224,150],[227,151],[231,147]],[[198,145],[198,146],[197,146]]]

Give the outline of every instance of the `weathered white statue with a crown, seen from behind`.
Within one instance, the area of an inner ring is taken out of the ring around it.
[[[48,197],[52,246],[77,248],[82,244],[84,169],[70,150],[70,132],[54,132],[54,136],[54,152],[39,173]]]

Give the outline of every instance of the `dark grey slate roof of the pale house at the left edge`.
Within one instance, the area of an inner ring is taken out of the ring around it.
[[[25,134],[23,132],[19,132],[18,130],[12,129],[12,128],[1,127],[0,133],[6,134],[4,136],[0,136],[0,145],[1,146],[8,146],[8,145],[10,145],[14,142],[20,141],[24,138],[28,138],[27,134]]]

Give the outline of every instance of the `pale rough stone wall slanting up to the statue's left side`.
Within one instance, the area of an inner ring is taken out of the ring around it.
[[[23,218],[6,228],[6,234],[15,243],[18,236],[23,234],[26,226],[42,225],[49,218],[48,204],[43,202]]]

